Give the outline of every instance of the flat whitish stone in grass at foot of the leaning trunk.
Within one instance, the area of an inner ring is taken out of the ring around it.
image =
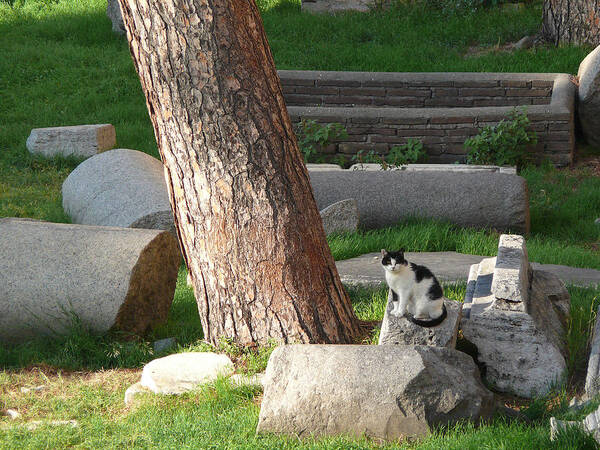
[[[210,352],[176,353],[150,361],[140,384],[155,394],[181,394],[233,373],[227,355]]]

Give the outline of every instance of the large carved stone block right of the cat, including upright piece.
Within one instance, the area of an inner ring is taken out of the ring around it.
[[[563,380],[569,305],[555,275],[531,270],[520,236],[502,235],[498,256],[471,268],[461,329],[496,390],[535,397]]]

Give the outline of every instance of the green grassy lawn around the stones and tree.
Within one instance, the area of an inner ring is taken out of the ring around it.
[[[365,71],[503,71],[576,73],[590,49],[540,47],[503,51],[502,45],[537,31],[541,4],[521,11],[492,8],[449,14],[420,6],[389,12],[314,16],[301,14],[298,1],[259,1],[280,69]],[[0,0],[0,217],[67,222],[61,207],[63,180],[79,161],[32,157],[25,141],[32,128],[112,123],[118,147],[158,156],[144,98],[127,43],[113,35],[105,0]],[[597,151],[589,150],[592,155]],[[600,269],[600,177],[589,167],[528,168],[521,174],[530,190],[530,259]],[[446,251],[493,255],[499,234],[434,221],[410,220],[386,230],[329,239],[336,259],[378,251]],[[143,398],[125,408],[125,389],[140,367],[156,356],[152,341],[176,337],[172,351],[211,349],[202,331],[191,290],[179,275],[169,321],[150,336],[90,335],[73,324],[68,336],[16,346],[0,345],[1,448],[373,448],[367,439],[298,441],[256,436],[260,391],[233,388],[220,380],[181,397]],[[348,288],[357,315],[380,320],[384,290]],[[446,285],[461,301],[464,284]],[[567,399],[581,389],[588,339],[600,291],[569,287],[572,320],[568,342],[568,387],[548,398],[520,402],[529,424],[498,417],[480,428],[463,424],[440,430],[409,448],[594,448],[589,437],[569,432],[549,440],[548,418],[574,419]],[[370,341],[375,342],[378,330]],[[238,372],[266,366],[272,350],[252,351],[223,341]],[[39,391],[21,387],[43,385]],[[585,412],[585,411],[584,411]],[[588,411],[589,412],[589,411]],[[27,425],[41,420],[35,430]],[[77,426],[49,425],[76,420]],[[385,447],[385,446],[384,446]]]

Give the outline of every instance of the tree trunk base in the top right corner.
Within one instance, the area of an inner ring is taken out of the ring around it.
[[[542,34],[555,45],[600,45],[598,0],[545,0]]]

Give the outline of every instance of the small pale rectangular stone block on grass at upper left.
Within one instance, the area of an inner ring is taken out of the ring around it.
[[[111,124],[34,128],[27,138],[27,150],[45,157],[89,158],[113,148],[117,143]]]

